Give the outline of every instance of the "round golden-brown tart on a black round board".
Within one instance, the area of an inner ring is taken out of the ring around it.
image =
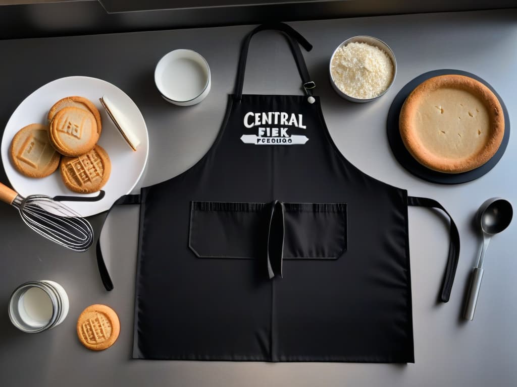
[[[406,149],[420,164],[460,173],[492,158],[503,140],[505,119],[488,87],[467,76],[440,75],[409,94],[399,128]]]

